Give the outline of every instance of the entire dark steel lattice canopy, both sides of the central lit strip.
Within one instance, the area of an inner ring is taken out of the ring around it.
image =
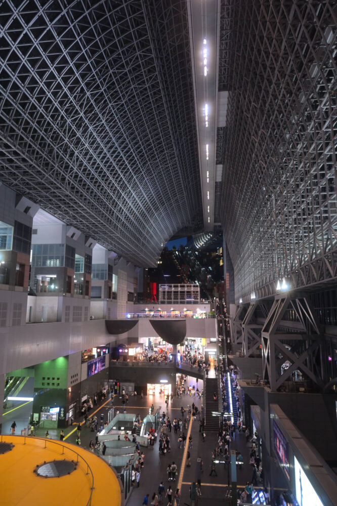
[[[154,266],[203,227],[190,4],[16,5],[0,5],[1,181]],[[236,302],[335,283],[336,4],[221,0],[219,23],[215,221]]]

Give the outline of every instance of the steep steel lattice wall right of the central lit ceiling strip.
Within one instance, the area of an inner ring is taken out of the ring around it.
[[[248,302],[283,277],[292,288],[336,279],[337,7],[233,9],[220,215],[236,302]]]

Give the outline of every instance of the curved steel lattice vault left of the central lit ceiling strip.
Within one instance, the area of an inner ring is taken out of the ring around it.
[[[0,5],[0,179],[138,265],[202,224],[186,2]]]

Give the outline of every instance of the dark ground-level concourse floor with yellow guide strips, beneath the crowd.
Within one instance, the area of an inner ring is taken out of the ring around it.
[[[185,385],[195,385],[195,378],[188,376],[187,383]],[[198,388],[202,390],[203,382],[199,380]],[[170,417],[171,421],[175,417],[179,418],[181,416],[181,406],[183,406],[186,410],[188,406],[195,403],[195,405],[201,409],[202,398],[199,401],[196,397],[192,398],[190,395],[185,394],[182,397],[174,397],[173,401],[170,400],[168,404],[168,409],[166,411],[165,398],[164,396],[144,396],[144,399],[141,399],[140,396],[130,397],[129,403],[126,404],[126,409],[128,413],[139,413],[141,418],[143,418],[149,412],[149,407],[151,404],[154,404],[155,410],[161,406],[160,413],[165,411],[168,417]],[[98,406],[95,406],[94,409],[89,413],[90,416],[96,414],[98,419],[100,419],[101,413],[104,414],[105,420],[107,419],[107,411],[111,407],[112,400],[105,399],[103,403]],[[119,408],[120,412],[122,410],[121,400],[118,397],[114,397],[113,405]],[[82,419],[75,420],[73,426],[68,427],[65,432],[65,440],[68,443],[76,442],[76,427],[78,422],[82,422]],[[201,473],[201,492],[202,498],[200,505],[207,505],[209,500],[212,499],[213,506],[220,506],[224,504],[224,496],[226,492],[226,487],[228,484],[228,468],[225,467],[224,463],[218,463],[216,465],[216,471],[218,476],[209,476],[210,473],[210,465],[212,463],[212,450],[217,447],[218,434],[214,432],[206,431],[205,442],[202,442],[201,433],[199,433],[199,421],[198,418],[191,422],[190,427],[188,428],[191,431],[193,442],[192,448],[189,449],[191,453],[191,467],[186,466],[186,453],[187,449],[184,448],[179,449],[178,445],[178,434],[169,433],[170,442],[171,442],[171,452],[166,453],[164,455],[158,452],[158,441],[154,444],[154,446],[150,446],[144,449],[145,453],[145,461],[144,468],[141,470],[141,478],[140,478],[140,486],[134,487],[132,495],[129,499],[129,504],[133,506],[134,504],[142,504],[144,496],[148,493],[150,494],[150,501],[153,492],[157,492],[158,485],[161,481],[164,482],[165,491],[168,486],[166,468],[168,463],[176,462],[178,467],[178,473],[176,475],[176,481],[170,482],[173,492],[175,492],[176,488],[180,484],[181,488],[181,506],[184,503],[190,504],[189,498],[189,487],[191,482],[197,481],[198,472],[197,472],[197,458],[201,457],[203,461],[203,471]],[[58,430],[50,430],[50,437],[54,439],[59,439],[60,429]],[[185,432],[186,434],[186,432]],[[45,436],[45,431],[41,430],[36,433],[39,437]],[[81,446],[84,448],[89,448],[89,443],[91,440],[95,441],[95,433],[91,432],[89,428],[82,425],[81,430]],[[143,450],[143,448],[141,447]],[[239,487],[244,487],[245,483],[251,480],[252,471],[249,467],[249,451],[250,445],[246,442],[245,435],[243,433],[239,434],[238,431],[235,432],[234,440],[231,443],[231,449],[240,450],[244,459],[244,465],[242,470],[239,471],[237,469],[237,482]],[[223,457],[220,456],[220,460]],[[183,466],[183,470],[182,470]],[[183,471],[183,472],[181,472]],[[255,487],[259,488],[259,487]],[[167,498],[164,499],[163,504],[166,506]]]

